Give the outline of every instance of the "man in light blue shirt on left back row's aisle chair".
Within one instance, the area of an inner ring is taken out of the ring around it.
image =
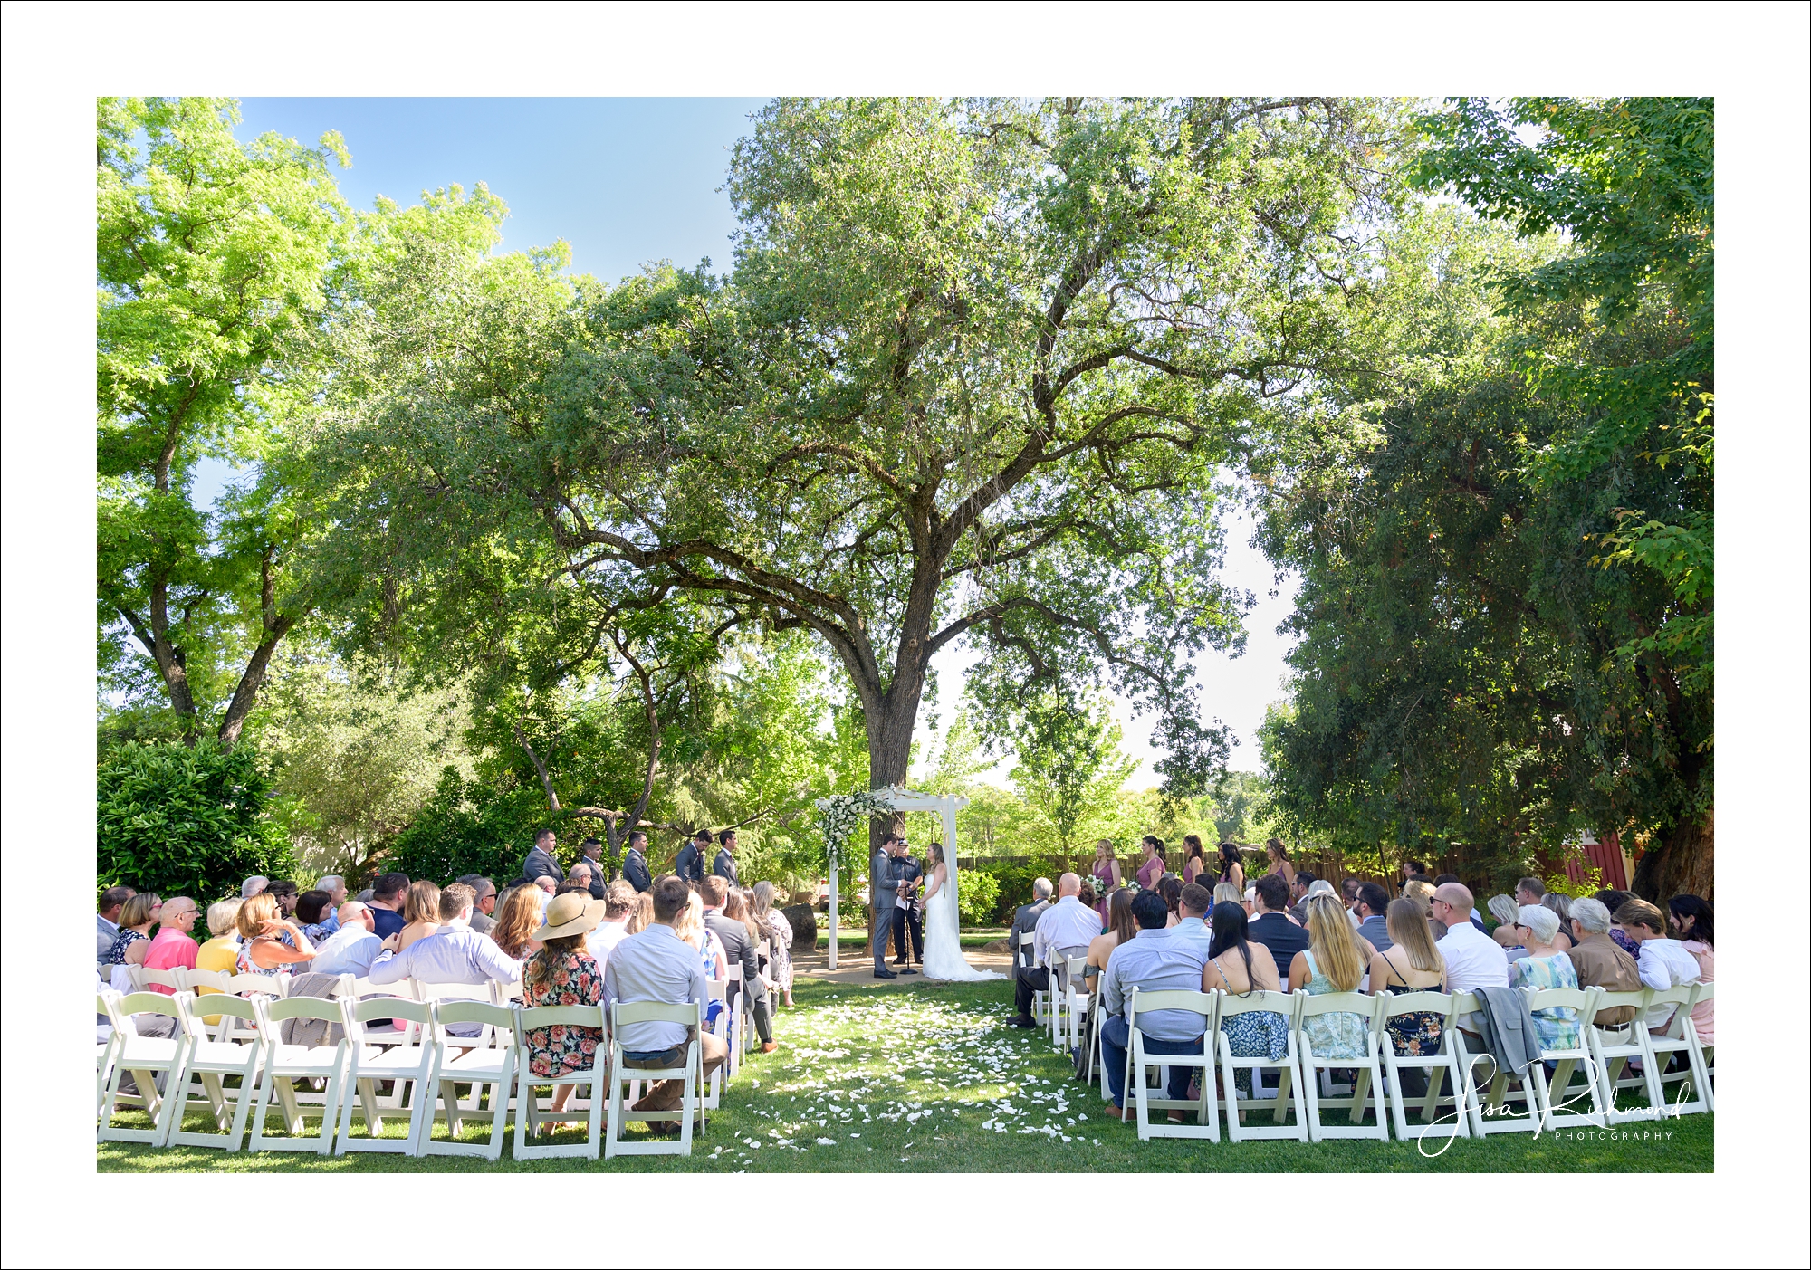
[[[652,921],[623,939],[603,968],[603,1002],[608,1011],[618,1000],[661,1000],[666,1004],[704,1002],[704,962],[697,950],[674,934],[674,919],[685,910],[692,892],[681,877],[657,877],[647,892],[652,897]],[[630,1067],[676,1067],[685,1060],[685,1044],[692,1037],[683,1024],[632,1022],[623,1024],[623,1062]],[[730,1057],[730,1046],[708,1031],[699,1033],[701,1080]],[[632,1111],[672,1111],[685,1096],[685,1082],[663,1080],[637,1102]]]

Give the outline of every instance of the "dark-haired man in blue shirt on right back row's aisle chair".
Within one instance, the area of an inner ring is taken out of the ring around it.
[[[1072,876],[1063,874],[1065,879]],[[1164,923],[1170,921],[1170,908],[1163,903],[1163,896],[1148,890],[1139,892],[1137,899],[1132,901],[1132,919],[1139,928],[1137,939],[1114,948],[1107,961],[1107,973],[1101,975],[1101,1008],[1108,1015],[1107,1022],[1101,1024],[1101,1062],[1107,1066],[1107,1087],[1114,1111],[1125,1105],[1126,1049],[1132,1044],[1132,1029],[1125,1013],[1132,990],[1201,991],[1201,968],[1208,961],[1208,950],[1201,941],[1179,939],[1174,930],[1164,928]],[[1179,1009],[1139,1011],[1137,1028],[1145,1035],[1146,1055],[1201,1053],[1201,1015]],[[1170,1098],[1188,1095],[1188,1078],[1193,1071],[1193,1067],[1170,1067]],[[1170,1118],[1181,1120],[1183,1114],[1172,1113]]]

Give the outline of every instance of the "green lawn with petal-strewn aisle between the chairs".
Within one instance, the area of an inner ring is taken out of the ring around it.
[[[1414,1142],[1141,1143],[1070,1080],[1040,1031],[1005,1026],[1005,984],[840,986],[800,981],[781,1011],[775,1055],[753,1057],[723,1111],[677,1156],[502,1161],[223,1151],[105,1143],[101,1172],[1708,1172],[1713,1116],[1623,1125],[1608,1140],[1565,1133],[1460,1140],[1438,1158]],[[201,1129],[201,1116],[190,1120]],[[400,1123],[386,1125],[397,1136]],[[444,1129],[442,1129],[444,1133]],[[467,1127],[467,1136],[476,1136]],[[1436,1149],[1436,1147],[1431,1147]]]

